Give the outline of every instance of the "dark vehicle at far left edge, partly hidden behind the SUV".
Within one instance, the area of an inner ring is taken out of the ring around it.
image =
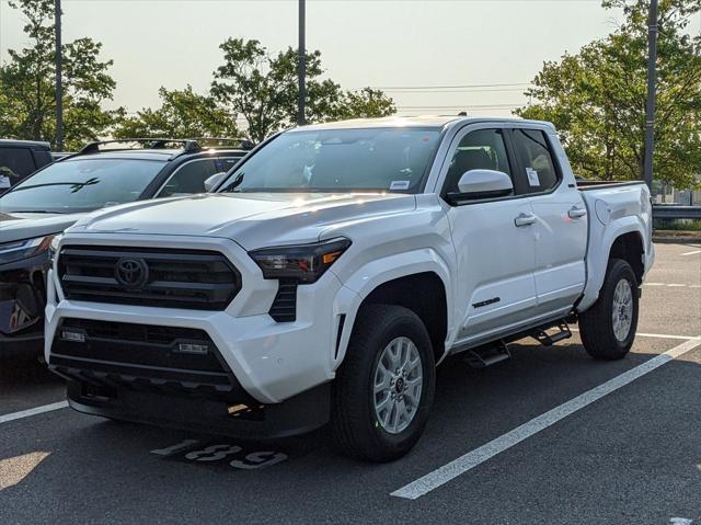
[[[0,139],[0,194],[53,161],[48,142]]]

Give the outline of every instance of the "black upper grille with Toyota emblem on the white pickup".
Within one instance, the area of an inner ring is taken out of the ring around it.
[[[145,278],[118,278],[125,261]],[[223,310],[241,288],[223,254],[202,250],[69,246],[59,253],[58,273],[67,298],[119,305]]]

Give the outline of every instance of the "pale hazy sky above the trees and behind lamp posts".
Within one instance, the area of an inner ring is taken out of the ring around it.
[[[271,52],[297,46],[297,0],[62,2],[64,41],[103,43],[117,81],[105,105],[129,112],[158,106],[161,85],[205,92],[228,37]],[[321,50],[343,88],[386,89],[400,114],[504,116],[527,103],[522,91],[544,60],[576,53],[621,19],[599,0],[308,0],[307,48]],[[0,59],[25,43],[20,13],[0,0]]]

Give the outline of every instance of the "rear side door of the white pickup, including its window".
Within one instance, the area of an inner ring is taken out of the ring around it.
[[[542,128],[512,132],[518,186],[536,215],[536,289],[539,313],[572,307],[584,289],[587,212],[579,192],[563,181],[567,158]],[[554,132],[552,132],[554,134]]]

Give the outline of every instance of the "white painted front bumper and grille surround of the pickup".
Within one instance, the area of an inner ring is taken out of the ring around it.
[[[338,322],[348,305],[358,299],[332,272],[313,285],[298,287],[296,321],[276,322],[267,311],[277,282],[264,279],[248,253],[228,239],[120,236],[117,240],[78,233],[66,236],[61,243],[217,250],[237,266],[243,287],[225,311],[77,301],[64,297],[53,270],[46,306],[45,356],[49,366],[60,365],[60,358],[54,357],[53,342],[62,320],[84,319],[202,330],[235,383],[263,404],[279,403],[335,376]]]

